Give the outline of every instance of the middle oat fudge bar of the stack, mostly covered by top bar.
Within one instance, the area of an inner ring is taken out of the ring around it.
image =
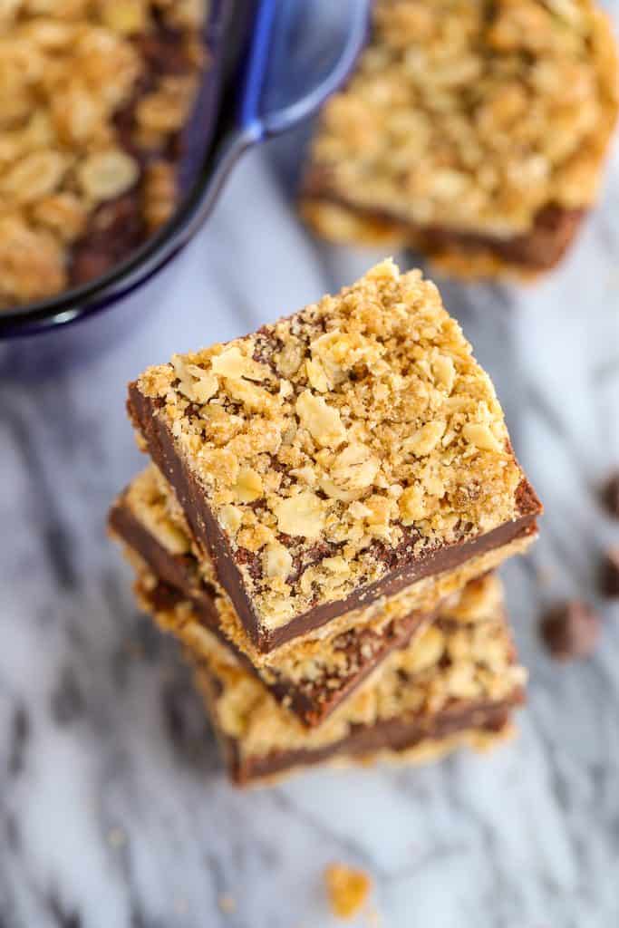
[[[432,621],[440,599],[498,561],[519,553],[531,540],[517,540],[472,558],[459,570],[441,575],[431,588],[420,583],[414,594],[374,600],[367,610],[346,613],[318,634],[294,638],[262,654],[252,645],[218,583],[212,562],[200,559],[174,494],[153,465],[135,478],[112,507],[110,531],[135,568],[138,599],[146,602],[147,610],[153,606],[160,617],[172,618],[172,625],[164,625],[164,630],[183,641],[196,658],[205,628],[219,636],[277,700],[308,726],[323,722],[393,649],[419,635]],[[184,600],[184,608],[174,608]],[[207,645],[209,639],[207,635]]]

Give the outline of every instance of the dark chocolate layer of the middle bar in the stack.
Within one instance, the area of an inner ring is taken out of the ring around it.
[[[213,586],[209,586],[200,578],[195,558],[191,555],[174,555],[163,548],[135,518],[131,510],[123,506],[122,501],[110,512],[110,527],[146,561],[153,574],[160,580],[154,589],[140,590],[142,597],[148,599],[152,610],[165,611],[174,609],[180,602],[191,602],[200,624],[233,651],[239,662],[264,683],[277,701],[284,702],[308,727],[323,722],[388,654],[406,647],[422,626],[431,622],[436,614],[411,612],[397,622],[385,625],[380,633],[371,629],[342,633],[337,639],[337,647],[346,651],[351,666],[355,668],[348,674],[323,677],[316,682],[307,680],[295,683],[270,667],[269,674],[276,677],[276,680],[266,683],[247,655],[239,651],[222,632],[219,614],[213,601],[215,591]],[[371,647],[370,656],[364,653],[368,644]]]

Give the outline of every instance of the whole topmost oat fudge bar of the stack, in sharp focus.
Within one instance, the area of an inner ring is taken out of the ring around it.
[[[493,385],[391,261],[129,388],[146,449],[261,651],[535,532]]]

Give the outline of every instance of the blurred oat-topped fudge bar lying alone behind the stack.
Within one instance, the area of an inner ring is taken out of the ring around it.
[[[303,214],[463,277],[557,264],[598,197],[618,106],[592,0],[378,0],[320,121]]]

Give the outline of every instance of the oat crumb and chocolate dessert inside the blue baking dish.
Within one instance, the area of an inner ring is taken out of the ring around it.
[[[203,6],[0,4],[0,309],[102,275],[170,217]]]

